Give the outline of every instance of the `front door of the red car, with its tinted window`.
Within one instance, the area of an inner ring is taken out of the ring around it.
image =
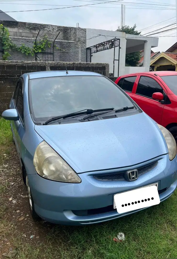
[[[142,75],[138,77],[136,89],[132,92],[132,99],[157,123],[161,123],[162,113],[165,104],[166,89],[161,82],[151,76]],[[152,99],[152,94],[161,92],[164,95],[163,101]]]

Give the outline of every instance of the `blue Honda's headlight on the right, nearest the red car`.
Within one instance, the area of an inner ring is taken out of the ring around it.
[[[167,147],[168,147],[169,159],[171,161],[176,156],[176,152],[177,152],[176,141],[173,138],[173,135],[170,133],[170,131],[168,131],[166,128],[164,128],[163,126],[161,126],[159,124],[157,124],[157,126],[159,127],[162,134],[164,135],[164,138],[165,138],[165,141],[166,141]]]

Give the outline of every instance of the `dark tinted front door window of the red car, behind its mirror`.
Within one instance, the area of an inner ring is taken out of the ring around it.
[[[152,98],[152,95],[155,92],[163,93],[163,89],[157,81],[148,76],[141,76],[136,89],[136,94]]]

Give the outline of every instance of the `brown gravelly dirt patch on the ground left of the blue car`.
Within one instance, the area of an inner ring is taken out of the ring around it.
[[[43,220],[34,222],[30,216],[26,186],[16,148],[1,149],[0,166],[0,258],[16,256],[14,239],[30,244],[46,242],[54,226]]]

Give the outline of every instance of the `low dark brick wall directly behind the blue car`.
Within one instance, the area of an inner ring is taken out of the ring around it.
[[[24,73],[48,70],[93,71],[109,76],[109,64],[86,62],[31,62],[21,64],[21,61],[0,62],[0,114],[9,108],[10,99],[18,78]]]

